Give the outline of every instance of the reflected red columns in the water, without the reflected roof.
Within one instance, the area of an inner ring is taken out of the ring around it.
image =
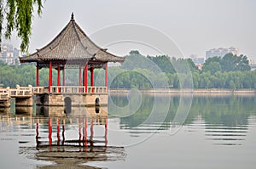
[[[68,121],[69,125],[78,124],[78,139],[67,139],[65,134],[65,124]],[[39,123],[38,119],[36,123],[36,144],[37,147],[41,146],[59,146],[59,145],[77,145],[83,146],[84,149],[87,149],[88,146],[93,147],[95,144],[104,144],[108,145],[108,116],[95,115],[91,117],[76,117],[73,119],[61,118],[61,117],[49,117],[47,121],[48,127],[48,140],[40,141],[39,133]],[[94,140],[94,127],[101,125],[105,127],[104,140]],[[45,128],[45,125],[43,126]],[[88,128],[90,127],[90,136],[88,137]],[[54,130],[53,130],[54,129]],[[45,132],[45,131],[44,131]],[[54,137],[54,134],[55,133]]]

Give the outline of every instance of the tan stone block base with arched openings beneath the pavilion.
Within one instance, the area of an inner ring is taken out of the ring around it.
[[[98,105],[96,105],[96,99],[99,101]],[[108,115],[108,93],[44,93],[36,95],[36,104],[38,115]]]

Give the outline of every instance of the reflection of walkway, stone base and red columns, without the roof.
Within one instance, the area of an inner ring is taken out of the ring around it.
[[[93,146],[95,141],[93,141],[94,136],[94,126],[104,126],[105,127],[105,135],[104,135],[104,143],[105,146],[108,144],[108,113],[107,107],[96,106],[96,107],[76,107],[72,113],[69,115],[65,114],[62,109],[57,110],[59,107],[48,107],[48,109],[42,109],[44,107],[37,106],[36,113],[32,112],[32,107],[16,107],[15,114],[10,112],[10,108],[6,108],[1,110],[1,121],[6,122],[7,126],[9,125],[29,125],[32,127],[36,123],[36,133],[37,133],[37,145],[45,144],[45,142],[40,142],[38,138],[39,134],[39,124],[43,123],[43,127],[45,124],[48,125],[49,132],[49,146],[52,145],[52,129],[55,128],[57,132],[57,145],[64,145],[64,143],[69,144],[83,144],[87,146],[89,143],[90,146]],[[53,108],[53,109],[50,109]],[[48,117],[47,122],[45,121],[45,117]],[[15,123],[14,123],[15,122]],[[79,125],[79,139],[78,140],[65,140],[65,124],[67,125]],[[87,127],[90,126],[90,137],[87,139]],[[60,134],[62,129],[62,134]],[[61,137],[62,135],[62,141]],[[99,141],[96,141],[100,143]],[[102,141],[101,141],[102,143]]]

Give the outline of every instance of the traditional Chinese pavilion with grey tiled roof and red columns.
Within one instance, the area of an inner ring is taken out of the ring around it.
[[[71,20],[64,29],[44,48],[37,49],[34,54],[26,57],[20,57],[20,63],[36,63],[36,86],[39,86],[39,70],[49,68],[49,85],[48,92],[40,93],[40,103],[46,105],[63,105],[63,101],[51,101],[51,99],[65,99],[65,96],[52,98],[52,95],[60,95],[61,93],[68,94],[83,94],[84,101],[86,94],[95,96],[98,100],[101,99],[96,95],[107,93],[108,89],[108,62],[124,62],[124,57],[115,56],[107,52],[106,48],[98,47],[84,31],[75,22],[73,14]],[[65,69],[79,69],[79,87],[65,86]],[[105,87],[95,87],[94,70],[105,70]],[[52,86],[52,69],[57,70],[58,79],[57,86]],[[87,86],[87,74],[90,71],[90,86]],[[62,71],[62,84],[61,84]],[[107,93],[108,94],[108,93]],[[42,97],[44,99],[42,99]],[[51,99],[50,99],[51,97]],[[94,97],[94,98],[95,98]],[[71,97],[71,99],[73,99]],[[45,101],[47,100],[47,101]],[[43,103],[44,102],[44,103]],[[39,101],[37,102],[39,104]]]

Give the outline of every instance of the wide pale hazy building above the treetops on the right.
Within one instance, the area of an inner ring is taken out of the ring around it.
[[[224,57],[225,54],[238,54],[238,48],[230,47],[230,48],[212,48],[207,50],[206,58],[212,58],[214,56]]]

